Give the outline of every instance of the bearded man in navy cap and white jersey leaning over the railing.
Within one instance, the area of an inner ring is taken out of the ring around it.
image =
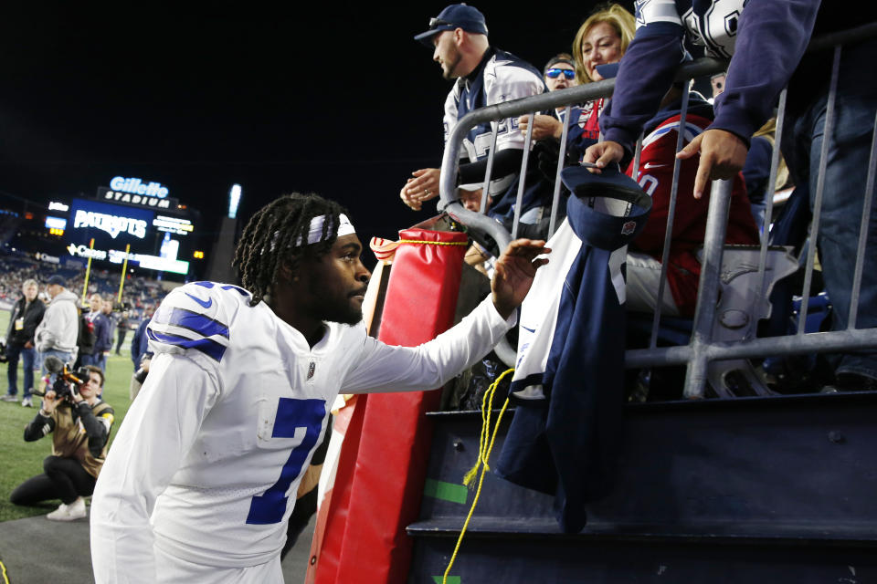
[[[446,79],[456,79],[445,100],[445,140],[463,116],[485,106],[527,98],[544,93],[540,72],[532,65],[500,49],[491,47],[487,38],[484,15],[469,5],[449,5],[439,16],[429,20],[427,31],[415,39],[433,48],[432,58],[439,63]],[[491,124],[484,122],[472,128],[463,141],[468,162],[460,164],[459,183],[482,183],[491,147]],[[523,159],[524,135],[515,118],[499,120],[496,155],[491,172],[490,214],[508,219],[514,213],[513,203]],[[439,195],[438,168],[412,172],[412,178],[399,193],[412,209],[420,209],[424,201]],[[535,162],[526,176],[522,221],[538,223],[544,204],[550,203],[551,189],[545,188]]]

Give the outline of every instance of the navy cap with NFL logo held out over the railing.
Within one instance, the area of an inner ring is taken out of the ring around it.
[[[618,164],[609,164],[601,174],[570,166],[560,172],[560,179],[573,193],[566,202],[567,219],[587,245],[608,250],[628,245],[649,219],[651,197]],[[614,199],[617,204],[602,201],[592,206],[586,202],[592,197]]]

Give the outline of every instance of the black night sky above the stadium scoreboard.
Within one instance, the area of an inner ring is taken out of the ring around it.
[[[123,4],[6,10],[5,202],[91,198],[122,175],[166,185],[205,231],[232,183],[244,220],[281,193],[316,192],[351,210],[364,241],[435,214],[398,192],[441,160],[449,81],[412,36],[444,3]],[[473,5],[491,44],[541,69],[570,50],[593,2]]]

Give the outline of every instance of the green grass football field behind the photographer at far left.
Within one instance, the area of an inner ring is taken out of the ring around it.
[[[5,335],[9,322],[9,312],[0,310],[0,334]],[[122,423],[125,412],[131,401],[128,399],[128,388],[131,383],[133,372],[128,345],[132,333],[129,333],[122,346],[122,356],[111,353],[107,362],[107,380],[103,386],[103,400],[110,403],[116,412],[115,422],[112,426],[112,435],[115,435]],[[8,389],[6,364],[0,363],[0,392],[5,394]],[[37,384],[39,374],[34,383]],[[34,474],[43,472],[43,458],[51,454],[51,436],[47,436],[37,442],[26,443],[23,435],[27,422],[37,415],[37,403],[33,408],[21,406],[21,391],[23,386],[23,371],[21,362],[18,363],[18,398],[19,401],[0,401],[0,521],[19,519],[21,517],[35,516],[48,513],[60,503],[59,501],[47,502],[43,506],[23,507],[9,503],[9,495],[13,489]],[[38,398],[34,398],[37,402]]]

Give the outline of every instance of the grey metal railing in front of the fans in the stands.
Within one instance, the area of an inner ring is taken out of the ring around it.
[[[834,106],[837,95],[838,71],[840,66],[840,55],[842,45],[858,42],[863,39],[877,38],[877,23],[870,23],[865,26],[859,26],[850,30],[829,36],[820,36],[813,39],[808,51],[825,50],[834,47],[833,70],[831,75],[831,85],[829,89],[828,112],[825,119],[825,136],[831,136],[833,125],[835,123]],[[704,75],[713,74],[724,71],[727,63],[713,58],[702,58],[692,63],[684,65],[680,68],[676,79],[688,80],[699,78]],[[870,75],[866,71],[862,71],[861,75]],[[682,117],[680,127],[685,124],[685,115],[688,108],[688,86],[683,84],[682,95]],[[562,91],[544,93],[542,95],[531,98],[517,99],[507,101],[496,105],[491,105],[480,110],[471,111],[464,116],[458,124],[453,128],[449,135],[448,142],[445,147],[444,157],[441,165],[441,183],[439,186],[440,203],[439,209],[449,214],[453,219],[468,226],[477,232],[490,235],[503,249],[505,245],[514,238],[518,230],[520,212],[522,206],[523,193],[525,189],[524,176],[528,164],[529,150],[523,151],[523,162],[521,181],[517,193],[517,203],[515,205],[514,222],[512,233],[509,234],[502,224],[493,220],[491,217],[482,213],[475,213],[465,209],[459,201],[455,199],[454,183],[457,176],[458,165],[460,161],[460,151],[462,148],[463,138],[467,132],[476,125],[483,122],[491,122],[493,129],[492,145],[488,155],[486,175],[484,177],[484,189],[482,194],[481,209],[486,209],[486,200],[489,193],[489,184],[491,182],[491,169],[493,155],[496,150],[496,129],[498,120],[505,120],[512,117],[529,114],[533,116],[541,111],[552,110],[555,108],[566,107],[565,120],[569,120],[571,104],[585,103],[587,101],[599,98],[609,97],[615,87],[615,79],[607,79],[595,83],[589,83],[583,86],[577,86]],[[773,197],[774,183],[777,176],[777,166],[779,162],[780,140],[782,136],[783,124],[786,114],[786,90],[780,95],[778,112],[777,112],[777,140],[774,141],[774,150],[770,168],[770,178],[768,192],[766,194],[766,217],[764,222],[763,236],[761,237],[761,246],[758,259],[758,277],[755,289],[749,290],[749,295],[753,302],[757,298],[766,297],[766,261],[768,253],[767,230],[771,224],[773,213]],[[531,135],[534,124],[529,124],[525,142],[532,144]],[[877,120],[874,124],[877,128]],[[549,225],[549,233],[555,232],[557,203],[560,197],[560,172],[564,166],[565,147],[566,147],[566,131],[568,123],[565,122],[563,135],[560,141],[560,155],[555,176],[555,192],[554,202],[552,206],[551,222]],[[679,133],[676,151],[682,148],[682,132]],[[639,166],[639,151],[641,148],[640,140],[637,145],[635,155],[634,168]],[[804,286],[801,296],[809,297],[810,287],[812,283],[812,273],[815,261],[815,252],[817,236],[819,234],[819,219],[821,212],[822,191],[825,183],[826,164],[828,159],[829,140],[822,141],[822,151],[819,162],[819,179],[817,183],[816,193],[813,203],[813,218],[810,226],[810,242],[808,245],[807,266],[804,276]],[[656,308],[651,328],[650,346],[648,349],[630,349],[626,353],[626,366],[628,368],[650,368],[669,365],[687,364],[687,374],[684,386],[684,396],[687,398],[700,398],[704,395],[705,384],[708,377],[708,369],[714,361],[721,360],[745,360],[752,358],[764,358],[766,356],[787,356],[804,353],[816,352],[834,352],[834,351],[854,351],[862,349],[877,349],[877,328],[856,328],[856,316],[859,308],[859,297],[861,289],[861,273],[862,261],[865,255],[865,244],[868,236],[868,217],[871,214],[872,198],[874,193],[874,177],[875,169],[877,169],[877,130],[873,132],[872,150],[868,167],[867,182],[865,184],[864,193],[871,193],[871,196],[863,197],[863,208],[861,214],[861,226],[858,253],[856,258],[856,270],[853,279],[853,287],[851,291],[851,310],[848,318],[849,326],[846,330],[837,330],[831,332],[807,333],[804,332],[804,323],[807,319],[808,305],[807,302],[801,303],[801,310],[798,321],[797,334],[782,337],[770,337],[758,339],[754,336],[748,339],[737,340],[734,342],[726,342],[713,339],[713,321],[716,318],[716,303],[720,296],[720,276],[723,261],[725,231],[728,222],[729,205],[731,201],[731,181],[715,181],[713,182],[712,195],[709,203],[709,213],[706,224],[706,233],[703,241],[703,260],[702,273],[700,278],[700,287],[698,290],[697,305],[695,308],[694,319],[692,323],[692,336],[688,345],[674,347],[658,347],[658,330],[660,322],[660,302]],[[662,269],[660,275],[660,289],[658,298],[663,297],[664,287],[667,281],[668,255],[671,248],[671,234],[673,218],[675,214],[675,206],[677,199],[678,183],[679,183],[680,164],[677,160],[673,170],[673,181],[671,188],[671,201],[669,216],[667,220],[667,230],[664,238],[664,248],[662,257]],[[682,196],[692,196],[691,193],[682,193]],[[510,354],[511,351],[511,354]],[[513,349],[509,347],[497,350],[501,358],[506,362],[514,362]]]

